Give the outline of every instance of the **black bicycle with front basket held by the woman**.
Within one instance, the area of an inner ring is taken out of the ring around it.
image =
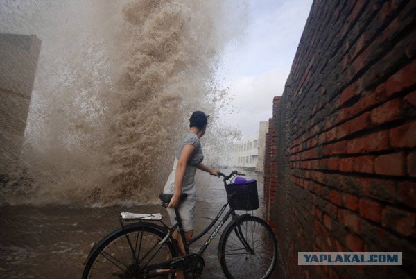
[[[235,210],[259,208],[257,185],[233,184],[236,176],[232,171],[223,176],[227,190],[227,202],[202,233],[187,242],[182,228],[180,214],[175,208],[177,223],[173,227],[162,221],[161,214],[134,214],[122,212],[121,228],[114,230],[96,244],[87,257],[83,278],[174,278],[175,272],[184,271],[185,278],[200,278],[205,266],[202,254],[220,228],[231,217],[223,230],[218,244],[218,259],[227,278],[268,278],[277,261],[277,242],[270,226],[250,213],[236,214]],[[229,180],[229,183],[227,181]],[[254,182],[255,183],[255,182]],[[249,189],[240,191],[240,189]],[[251,192],[250,192],[251,191]],[[255,192],[255,198],[253,198]],[[243,193],[243,194],[241,194]],[[172,194],[160,194],[162,206],[171,201]],[[181,201],[187,198],[182,194]],[[245,199],[245,201],[241,201]],[[189,246],[214,227],[225,209],[223,219],[209,235],[198,253],[189,253]],[[126,221],[135,223],[125,224]],[[186,255],[179,254],[179,248],[172,237],[179,228]]]

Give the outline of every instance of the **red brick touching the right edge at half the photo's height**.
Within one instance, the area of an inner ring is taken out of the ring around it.
[[[392,128],[390,144],[393,148],[413,148],[416,146],[416,121]]]

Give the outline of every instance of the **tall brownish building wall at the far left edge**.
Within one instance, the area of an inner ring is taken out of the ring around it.
[[[0,34],[1,162],[23,142],[40,44],[35,35]]]

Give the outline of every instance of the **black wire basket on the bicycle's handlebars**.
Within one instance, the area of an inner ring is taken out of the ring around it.
[[[257,210],[259,194],[257,181],[249,183],[228,184],[225,186],[229,206],[234,210]]]

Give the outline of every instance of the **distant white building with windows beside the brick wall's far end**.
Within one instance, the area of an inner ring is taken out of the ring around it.
[[[263,171],[264,147],[268,122],[260,122],[259,131],[243,137],[233,149],[233,162],[236,167],[252,167]]]

